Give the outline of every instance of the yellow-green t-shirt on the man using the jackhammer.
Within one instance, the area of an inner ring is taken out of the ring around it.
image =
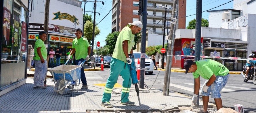
[[[134,35],[132,34],[131,29],[129,27],[123,28],[123,30],[119,33],[112,57],[126,63],[127,61],[126,61],[125,53],[123,51],[123,41],[125,40],[128,40],[128,54],[129,54],[133,45],[135,45]]]

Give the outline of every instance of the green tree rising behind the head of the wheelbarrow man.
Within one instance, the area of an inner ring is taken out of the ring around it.
[[[87,38],[88,42],[91,43],[92,40],[92,32],[93,31],[93,22],[86,21],[84,28],[84,37]],[[100,34],[100,29],[98,26],[95,26],[95,34],[94,37]]]

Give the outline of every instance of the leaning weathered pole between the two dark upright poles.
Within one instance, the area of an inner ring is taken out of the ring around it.
[[[176,12],[176,5],[177,5],[177,1],[178,0],[174,0],[173,1],[173,11],[172,14],[174,14]],[[177,12],[175,13],[175,17],[177,18]],[[165,69],[165,78],[164,78],[164,88],[163,88],[163,95],[168,96],[169,95],[169,82],[170,82],[170,78],[169,76],[171,75],[171,64],[172,64],[172,53],[173,53],[173,47],[174,47],[174,39],[175,39],[175,30],[176,30],[176,23],[175,24],[171,24],[170,26],[170,33],[169,33],[169,43],[168,44],[168,49],[167,49],[167,60],[169,62],[166,62],[166,69]],[[175,27],[175,29],[174,29]],[[168,67],[168,68],[167,68]]]

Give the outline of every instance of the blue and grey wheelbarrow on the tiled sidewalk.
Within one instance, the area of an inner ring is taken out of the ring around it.
[[[63,94],[65,87],[69,82],[75,81],[75,84],[72,84],[75,86],[79,86],[80,84],[81,68],[86,60],[84,60],[79,66],[66,65],[68,61],[64,65],[60,65],[49,70],[54,79],[54,92],[58,92],[58,94]],[[57,82],[55,82],[56,80]],[[79,80],[78,84],[77,80]]]

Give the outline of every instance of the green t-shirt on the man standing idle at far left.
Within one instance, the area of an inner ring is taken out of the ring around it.
[[[43,59],[46,60],[47,58],[47,49],[45,47],[45,43],[43,43],[43,40],[38,39],[35,43],[35,49],[34,49],[34,53],[35,56],[33,58],[33,60],[41,60],[41,58],[39,57],[38,53],[37,53],[37,48],[41,47],[41,54],[43,56]]]

